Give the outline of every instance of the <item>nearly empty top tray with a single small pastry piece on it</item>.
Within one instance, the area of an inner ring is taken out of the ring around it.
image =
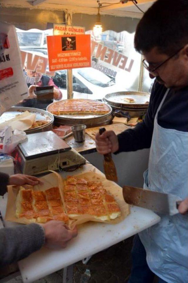
[[[125,102],[124,98],[128,96],[133,98],[135,103]],[[146,92],[139,91],[120,91],[115,93],[109,93],[105,95],[105,101],[110,104],[110,106],[118,107],[130,107],[130,108],[147,108],[150,100],[150,94]]]

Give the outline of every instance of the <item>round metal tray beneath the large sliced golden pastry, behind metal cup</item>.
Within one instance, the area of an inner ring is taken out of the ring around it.
[[[88,99],[89,100],[89,99]],[[50,104],[51,105],[51,104]],[[50,106],[48,105],[48,107]],[[48,107],[46,110],[48,111]],[[84,124],[87,128],[97,127],[101,125],[109,125],[113,119],[113,111],[108,105],[109,112],[107,114],[63,114],[54,115],[54,124],[60,125],[77,125]]]

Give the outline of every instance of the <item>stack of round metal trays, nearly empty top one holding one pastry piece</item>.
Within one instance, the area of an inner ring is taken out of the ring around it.
[[[133,98],[134,103],[125,101],[125,98]],[[113,108],[115,113],[130,118],[145,115],[150,101],[150,94],[139,91],[121,91],[106,94],[102,100]],[[115,114],[116,115],[116,114]]]

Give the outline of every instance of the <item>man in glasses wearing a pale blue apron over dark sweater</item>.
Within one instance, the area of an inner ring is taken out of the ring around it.
[[[150,78],[156,78],[147,114],[134,129],[96,135],[100,154],[150,148],[144,188],[183,201],[179,213],[135,236],[129,283],[188,282],[188,1],[158,0],[135,33]]]

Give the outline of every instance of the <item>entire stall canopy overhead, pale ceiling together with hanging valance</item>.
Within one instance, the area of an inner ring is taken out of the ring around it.
[[[138,6],[146,11],[155,0],[137,0]],[[142,13],[132,3],[113,4],[117,0],[108,0],[110,4],[103,3],[100,8],[103,30],[120,32],[127,30],[133,32],[142,17]],[[112,5],[113,4],[113,5]],[[48,29],[52,23],[63,23],[64,12],[70,11],[72,24],[90,30],[96,21],[98,3],[96,0],[0,0],[0,20],[14,24],[20,29]],[[132,19],[135,20],[132,20]]]

